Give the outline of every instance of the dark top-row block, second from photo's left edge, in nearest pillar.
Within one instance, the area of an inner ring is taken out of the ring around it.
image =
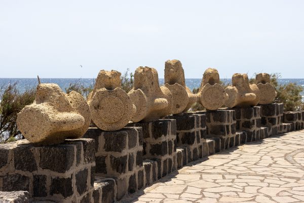
[[[14,165],[16,170],[27,172],[37,171],[37,164],[31,149],[32,146],[30,145],[14,148]]]

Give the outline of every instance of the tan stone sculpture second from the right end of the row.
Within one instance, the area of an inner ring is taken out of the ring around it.
[[[234,74],[232,86],[226,87],[225,91],[229,95],[225,106],[229,108],[256,106],[260,99],[258,87],[256,84],[249,84],[247,74]]]

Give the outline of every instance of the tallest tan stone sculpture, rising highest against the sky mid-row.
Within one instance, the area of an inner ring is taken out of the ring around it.
[[[179,60],[165,62],[165,86],[173,96],[172,114],[188,111],[197,101],[197,95],[186,86],[184,70]]]

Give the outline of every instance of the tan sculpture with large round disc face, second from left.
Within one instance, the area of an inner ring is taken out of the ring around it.
[[[136,111],[129,95],[121,89],[121,73],[100,71],[88,97],[92,121],[107,131],[125,127]]]

